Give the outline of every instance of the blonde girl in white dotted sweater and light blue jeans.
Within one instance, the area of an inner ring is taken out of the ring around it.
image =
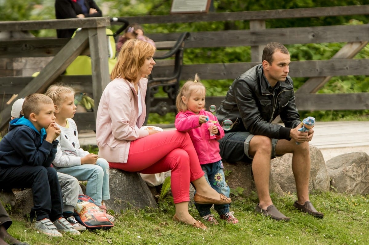
[[[77,108],[74,104],[75,91],[69,86],[52,85],[46,95],[54,102],[55,122],[61,129],[54,167],[79,181],[87,180],[86,195],[106,213],[104,200],[110,199],[109,164],[105,159],[80,148],[77,126],[72,119]],[[107,214],[107,217],[113,222],[113,216]]]

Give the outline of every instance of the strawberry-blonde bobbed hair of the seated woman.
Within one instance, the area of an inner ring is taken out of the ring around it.
[[[154,56],[155,50],[156,48],[150,43],[138,39],[127,40],[119,52],[118,61],[111,71],[110,78],[136,81],[145,59]]]

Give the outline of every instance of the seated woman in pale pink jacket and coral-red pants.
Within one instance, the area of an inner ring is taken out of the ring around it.
[[[206,229],[188,212],[190,181],[197,203],[227,204],[230,198],[210,187],[200,167],[196,150],[186,132],[140,129],[145,121],[147,76],[155,65],[155,47],[130,39],[124,43],[111,81],[101,95],[96,119],[99,157],[110,168],[144,174],[171,170],[171,188],[176,213],[173,220]]]

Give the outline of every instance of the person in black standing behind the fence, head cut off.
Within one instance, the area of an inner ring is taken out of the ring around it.
[[[101,17],[102,11],[94,0],[55,0],[56,19]],[[71,38],[76,29],[57,29],[58,38]]]

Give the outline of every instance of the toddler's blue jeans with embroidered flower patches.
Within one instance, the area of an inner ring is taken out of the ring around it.
[[[230,196],[230,187],[225,182],[225,176],[223,172],[223,163],[222,161],[217,161],[215,163],[202,164],[201,168],[203,169],[205,175],[205,179],[208,184],[218,193],[222,193],[223,195],[229,197]],[[196,192],[195,192],[196,193]],[[201,217],[204,217],[210,214],[210,208],[213,206],[212,204],[199,204],[195,202],[195,206],[197,211]],[[218,212],[219,215],[226,214],[230,212],[230,205],[214,205],[215,211]]]

